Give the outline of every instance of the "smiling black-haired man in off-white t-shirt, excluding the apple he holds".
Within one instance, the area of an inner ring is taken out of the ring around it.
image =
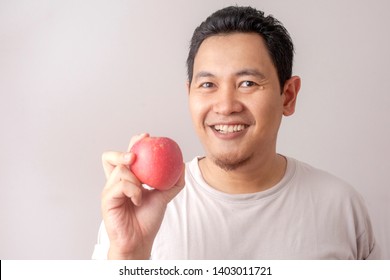
[[[300,89],[292,61],[291,38],[271,16],[228,7],[206,19],[187,59],[205,156],[187,163],[172,189],[157,191],[130,172],[132,153],[104,153],[104,223],[93,258],[378,258],[353,188],[276,152]]]

